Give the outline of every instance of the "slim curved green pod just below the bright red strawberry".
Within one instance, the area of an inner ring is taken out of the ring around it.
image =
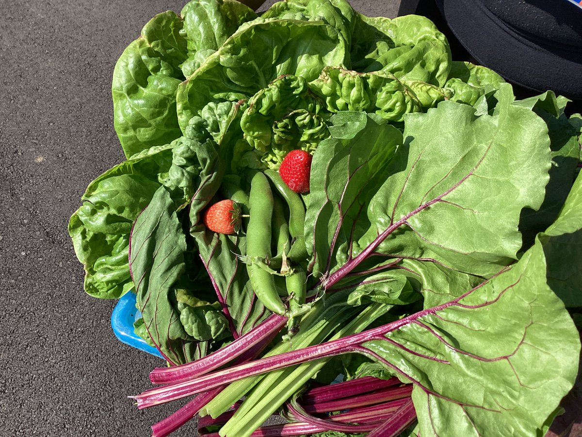
[[[265,175],[281,194],[289,206],[289,234],[293,238],[293,243],[287,257],[295,263],[307,259],[307,248],[305,246],[304,225],[305,225],[305,206],[301,196],[292,191],[281,179],[279,173],[274,170],[265,170]],[[276,260],[274,260],[276,262]]]

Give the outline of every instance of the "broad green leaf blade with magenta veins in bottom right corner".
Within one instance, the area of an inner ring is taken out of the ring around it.
[[[545,284],[540,245],[386,339],[365,347],[414,383],[422,435],[536,435],[572,387],[580,353],[572,319]]]

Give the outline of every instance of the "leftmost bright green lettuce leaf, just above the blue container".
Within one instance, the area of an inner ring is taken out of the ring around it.
[[[85,270],[87,294],[116,299],[132,288],[127,263],[129,233],[164,182],[171,157],[170,145],[155,147],[116,165],[88,185],[82,205],[69,220],[73,248]]]

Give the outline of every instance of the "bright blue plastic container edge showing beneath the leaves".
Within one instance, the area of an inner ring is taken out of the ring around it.
[[[136,308],[136,295],[127,292],[119,298],[111,313],[111,327],[119,341],[129,346],[164,359],[155,347],[145,343],[145,340],[133,332],[133,322],[141,317]]]

